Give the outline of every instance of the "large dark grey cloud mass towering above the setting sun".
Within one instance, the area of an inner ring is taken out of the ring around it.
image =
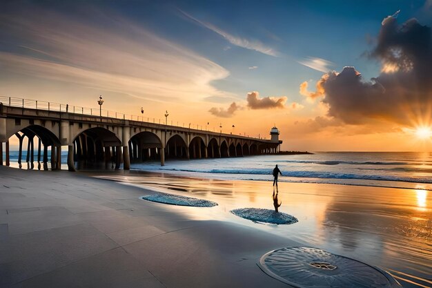
[[[384,19],[377,45],[369,53],[381,61],[380,75],[366,80],[355,68],[345,67],[320,79],[315,97],[324,95],[328,116],[347,124],[371,120],[404,126],[432,124],[431,28],[416,19],[399,25],[397,14]],[[306,88],[302,84],[300,90],[307,95]]]

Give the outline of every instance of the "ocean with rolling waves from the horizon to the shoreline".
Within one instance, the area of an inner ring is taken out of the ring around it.
[[[304,155],[166,160],[132,164],[131,169],[213,177],[226,180],[273,180],[279,166],[279,182],[308,182],[432,189],[432,153],[315,152]]]

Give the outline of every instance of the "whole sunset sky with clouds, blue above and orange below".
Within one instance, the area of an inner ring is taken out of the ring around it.
[[[269,137],[432,151],[432,0],[1,1],[0,95]]]

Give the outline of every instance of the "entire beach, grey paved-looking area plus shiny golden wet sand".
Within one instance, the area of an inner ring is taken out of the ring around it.
[[[299,222],[275,225],[230,213],[273,209],[271,182],[0,169],[1,287],[286,287],[257,262],[295,246],[430,285],[431,200],[412,189],[279,183],[279,211]],[[155,191],[219,205],[139,199]]]

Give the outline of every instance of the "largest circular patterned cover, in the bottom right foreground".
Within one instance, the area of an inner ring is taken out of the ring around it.
[[[400,288],[381,269],[311,247],[288,247],[266,253],[259,267],[269,276],[298,288]]]

